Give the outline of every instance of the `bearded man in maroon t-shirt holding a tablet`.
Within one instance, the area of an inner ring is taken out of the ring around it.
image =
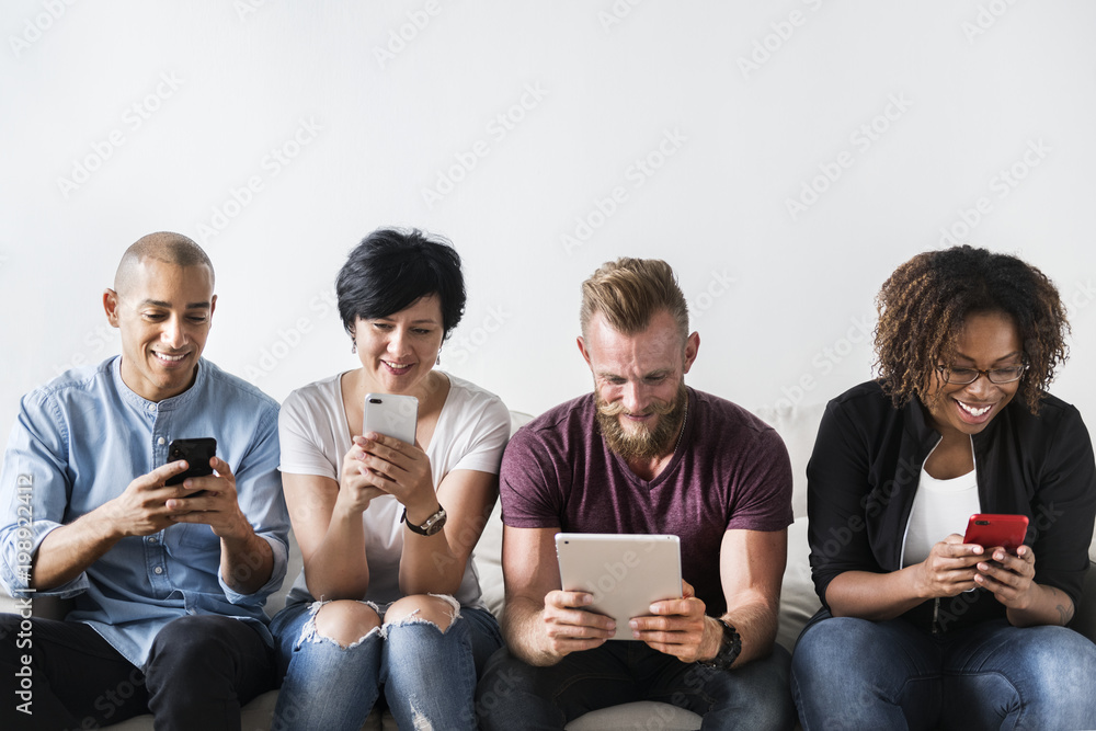
[[[594,392],[511,439],[502,461],[509,648],[479,685],[487,729],[562,729],[583,713],[661,700],[705,729],[790,729],[790,658],[775,646],[792,521],[776,432],[685,386],[700,338],[673,270],[618,259],[582,285],[579,351]],[[615,621],[561,591],[555,534],[670,534],[682,598]]]

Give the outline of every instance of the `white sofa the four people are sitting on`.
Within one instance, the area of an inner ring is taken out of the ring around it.
[[[777,642],[789,651],[807,620],[819,609],[820,604],[811,582],[809,548],[807,544],[807,460],[814,446],[814,435],[822,419],[823,404],[796,407],[792,409],[757,409],[755,413],[774,427],[784,438],[791,456],[795,475],[792,507],[795,523],[788,528],[788,566],[784,574],[780,595],[780,625]],[[512,413],[512,429],[516,431],[532,416]],[[496,615],[503,604],[503,581],[501,567],[502,522],[499,506],[495,506],[488,527],[484,529],[472,560],[483,589],[483,599]],[[1089,561],[1096,560],[1096,540],[1089,547]],[[289,569],[285,584],[267,602],[267,612],[276,614],[285,604],[289,586],[300,571],[300,550],[295,540],[290,545]],[[1072,627],[1096,641],[1096,571],[1089,571],[1085,583],[1085,599],[1074,617]],[[0,598],[0,610],[12,612],[12,599]],[[35,601],[34,613],[38,616],[59,617],[64,610],[57,604],[39,598]],[[249,703],[242,710],[243,731],[265,731],[270,729],[277,692],[271,690]],[[152,717],[141,716],[111,727],[112,731],[144,731],[152,729]],[[390,713],[374,711],[363,729],[369,731],[393,731],[398,727]],[[615,731],[617,729],[651,729],[663,731],[694,731],[700,728],[700,717],[687,710],[666,704],[640,701],[614,706],[589,712],[567,726],[568,731]]]

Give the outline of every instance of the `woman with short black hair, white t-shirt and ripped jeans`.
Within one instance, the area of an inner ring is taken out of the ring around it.
[[[336,293],[361,367],[297,389],[278,421],[305,567],[271,625],[285,673],[273,728],[361,728],[383,688],[400,728],[475,729],[478,669],[502,639],[470,556],[510,412],[434,368],[465,307],[448,242],[374,231]],[[367,393],[418,399],[413,444],[363,434]]]

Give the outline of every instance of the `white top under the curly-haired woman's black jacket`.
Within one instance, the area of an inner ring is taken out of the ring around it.
[[[963,535],[967,521],[978,512],[975,470],[950,480],[937,480],[922,467],[905,534],[903,566],[921,563],[928,558],[934,545],[952,533]]]

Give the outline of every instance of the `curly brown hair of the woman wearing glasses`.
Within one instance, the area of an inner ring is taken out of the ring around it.
[[[971,315],[1008,315],[1028,369],[1020,398],[1031,413],[1069,357],[1070,323],[1053,283],[1015,256],[969,245],[917,254],[883,283],[876,297],[876,368],[895,408],[926,400],[936,366],[950,363]]]

